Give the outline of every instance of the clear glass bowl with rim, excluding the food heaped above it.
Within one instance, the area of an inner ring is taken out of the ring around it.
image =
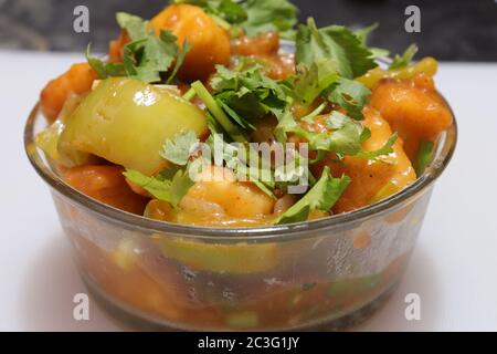
[[[454,122],[423,176],[378,204],[289,226],[213,229],[146,219],[73,189],[34,146],[45,126],[34,107],[25,149],[82,277],[114,316],[147,330],[332,330],[363,320],[399,282],[457,135]]]

